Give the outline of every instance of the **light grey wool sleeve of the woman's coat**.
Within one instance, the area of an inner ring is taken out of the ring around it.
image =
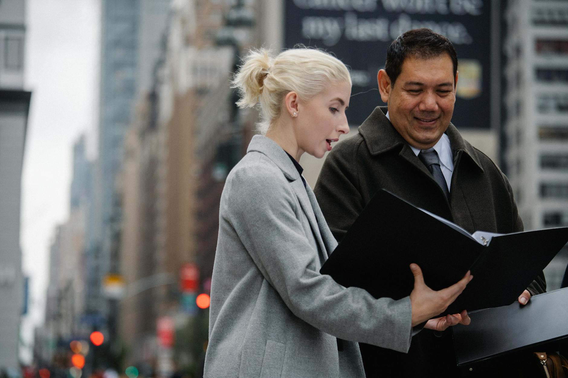
[[[227,220],[295,316],[335,337],[408,351],[410,297],[374,299],[321,275],[318,251],[304,233],[302,210],[281,172],[263,166],[236,170],[228,195]]]

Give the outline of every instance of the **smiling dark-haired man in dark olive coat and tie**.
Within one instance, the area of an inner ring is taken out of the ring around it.
[[[457,68],[452,43],[429,29],[410,30],[391,43],[385,69],[377,75],[387,106],[375,108],[358,135],[333,148],[315,186],[325,220],[338,241],[381,188],[470,233],[523,230],[505,175],[450,123]],[[400,227],[428,225],[408,219]],[[379,246],[377,241],[377,253],[389,253]],[[459,250],[440,253],[460,258]],[[545,288],[544,275],[538,276],[519,293],[519,302],[527,303]],[[469,324],[469,317],[454,314],[450,319],[433,319],[425,329],[416,329],[408,354],[361,344],[367,377],[458,376],[448,328]]]

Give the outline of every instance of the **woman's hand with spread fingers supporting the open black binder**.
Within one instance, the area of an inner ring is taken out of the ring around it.
[[[410,270],[412,271],[412,274],[414,274],[414,289],[410,293],[413,327],[430,320],[437,314],[444,312],[448,306],[456,300],[458,295],[461,294],[463,289],[465,289],[466,285],[473,278],[470,271],[467,271],[465,276],[463,276],[463,278],[456,284],[445,289],[441,289],[440,291],[434,291],[424,283],[424,276],[422,275],[422,270],[419,266],[416,264],[410,264]],[[451,315],[449,316],[452,317]],[[469,317],[467,317],[467,319],[469,319]],[[463,320],[465,319],[460,319],[460,321]],[[440,322],[440,325],[448,324],[449,326],[453,325],[452,323],[455,322],[455,320],[450,318],[449,322],[448,319],[445,319],[445,323],[442,323],[444,321]],[[446,328],[448,326],[446,326]]]

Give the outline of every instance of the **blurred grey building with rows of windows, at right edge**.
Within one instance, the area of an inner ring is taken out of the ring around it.
[[[526,229],[568,226],[568,2],[504,7],[502,160]],[[558,288],[566,250],[546,268]]]

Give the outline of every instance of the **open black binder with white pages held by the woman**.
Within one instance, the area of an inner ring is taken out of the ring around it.
[[[440,290],[467,270],[474,278],[445,313],[509,305],[568,241],[568,228],[511,234],[468,233],[460,226],[380,190],[321,267],[337,283],[375,298],[410,295],[420,266]]]

